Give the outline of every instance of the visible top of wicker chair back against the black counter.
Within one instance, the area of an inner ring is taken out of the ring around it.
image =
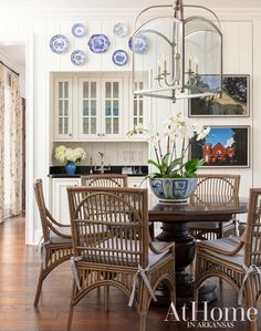
[[[127,187],[128,177],[123,174],[92,174],[81,177],[83,186]]]

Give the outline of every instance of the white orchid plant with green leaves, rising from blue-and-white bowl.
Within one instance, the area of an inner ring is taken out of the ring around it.
[[[192,139],[200,141],[206,138],[210,128],[203,127],[198,123],[189,123],[182,118],[182,114],[170,115],[164,121],[161,134],[144,128],[137,124],[128,136],[137,133],[144,133],[148,142],[152,143],[156,161],[149,159],[159,172],[150,174],[149,177],[174,178],[174,177],[195,177],[202,159],[185,161],[188,154],[188,147]],[[166,153],[163,153],[161,143],[167,141]]]

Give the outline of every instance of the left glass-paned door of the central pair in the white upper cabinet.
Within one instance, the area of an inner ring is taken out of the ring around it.
[[[100,91],[98,81],[80,80],[80,134],[81,136],[100,136]]]

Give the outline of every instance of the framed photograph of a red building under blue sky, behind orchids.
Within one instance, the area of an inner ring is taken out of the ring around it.
[[[249,126],[210,126],[208,136],[194,141],[190,158],[203,158],[202,167],[249,167]]]

